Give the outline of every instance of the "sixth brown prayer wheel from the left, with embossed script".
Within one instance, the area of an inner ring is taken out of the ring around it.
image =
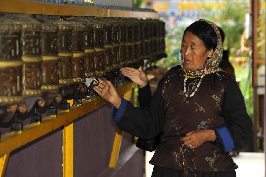
[[[68,20],[79,22],[85,27],[84,32],[84,49],[85,49],[85,77],[95,76],[95,62],[94,62],[94,53],[95,53],[95,37],[94,37],[94,24],[87,19],[82,19],[79,17],[72,17]]]

